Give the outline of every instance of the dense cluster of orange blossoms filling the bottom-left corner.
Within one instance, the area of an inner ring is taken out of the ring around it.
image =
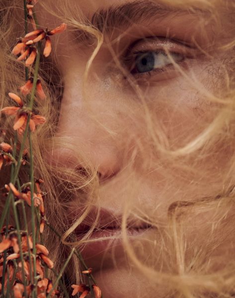
[[[4,287],[7,283],[12,284],[14,298],[22,298],[26,292],[30,297],[31,292],[36,287],[37,298],[46,298],[52,289],[52,281],[45,277],[45,266],[52,269],[53,262],[49,259],[49,251],[42,244],[36,244],[36,255],[33,255],[32,237],[27,233],[21,232],[20,237],[13,226],[8,226],[1,231],[2,241],[0,242],[0,277],[4,276]],[[21,242],[19,242],[19,238]],[[20,257],[23,255],[23,260]],[[4,253],[6,258],[6,269],[3,272]],[[36,262],[36,284],[33,281],[33,259]],[[1,284],[0,284],[1,290]],[[57,290],[53,291],[52,297],[59,296]]]

